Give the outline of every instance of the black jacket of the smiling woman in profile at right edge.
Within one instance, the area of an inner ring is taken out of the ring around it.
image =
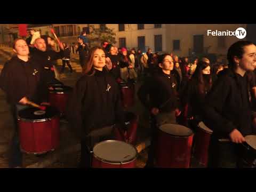
[[[204,118],[213,134],[228,138],[234,129],[244,136],[256,133],[252,128],[246,74],[242,77],[231,69],[220,71],[205,101]]]

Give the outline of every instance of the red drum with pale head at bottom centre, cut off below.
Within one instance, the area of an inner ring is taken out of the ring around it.
[[[137,150],[123,141],[107,140],[93,147],[94,168],[135,168]]]

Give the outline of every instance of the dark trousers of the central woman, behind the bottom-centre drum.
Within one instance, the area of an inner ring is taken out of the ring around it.
[[[91,131],[81,140],[81,162],[79,167],[92,167],[92,151],[95,144],[105,140],[113,140],[115,126],[105,126],[97,130]]]

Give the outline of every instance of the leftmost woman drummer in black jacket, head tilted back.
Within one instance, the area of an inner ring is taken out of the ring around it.
[[[4,65],[0,75],[0,87],[6,93],[7,102],[10,104],[15,125],[14,136],[11,143],[9,167],[22,166],[18,135],[18,111],[28,108],[29,101],[40,103],[46,101],[46,85],[42,74],[43,69],[29,59],[29,49],[25,40],[18,38],[13,43],[16,53]],[[46,103],[41,103],[46,104]]]

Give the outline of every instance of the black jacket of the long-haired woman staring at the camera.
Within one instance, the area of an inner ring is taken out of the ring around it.
[[[78,79],[67,105],[67,118],[80,138],[103,126],[117,124],[124,128],[120,90],[106,69]]]

